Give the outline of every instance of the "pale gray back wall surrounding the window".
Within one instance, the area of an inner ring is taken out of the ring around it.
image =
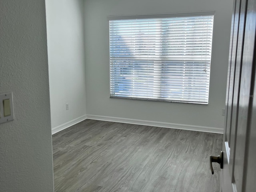
[[[89,115],[224,127],[232,0],[85,0],[86,112]],[[109,98],[110,15],[215,10],[209,104]]]

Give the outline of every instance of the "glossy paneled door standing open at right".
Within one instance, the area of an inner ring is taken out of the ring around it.
[[[234,0],[223,157],[210,159],[223,166],[222,192],[256,191],[255,31],[256,0]]]

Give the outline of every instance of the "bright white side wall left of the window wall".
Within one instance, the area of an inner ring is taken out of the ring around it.
[[[46,0],[53,130],[86,118],[83,7],[83,0]]]

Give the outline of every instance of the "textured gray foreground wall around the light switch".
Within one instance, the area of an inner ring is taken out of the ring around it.
[[[0,93],[15,120],[0,124],[0,191],[53,192],[44,0],[0,0]]]

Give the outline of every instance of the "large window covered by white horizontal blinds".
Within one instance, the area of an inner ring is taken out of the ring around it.
[[[208,104],[213,17],[109,19],[110,97]]]

